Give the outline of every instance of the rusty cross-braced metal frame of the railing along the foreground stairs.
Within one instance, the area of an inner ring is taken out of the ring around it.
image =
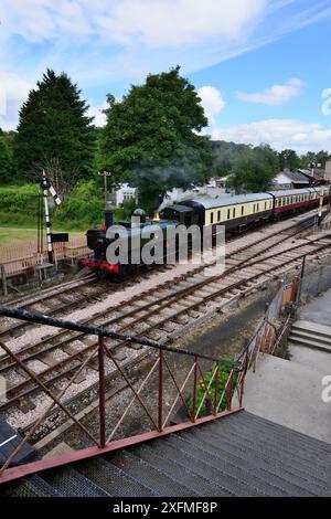
[[[57,328],[63,328],[63,329],[70,329],[70,330],[75,330],[75,331],[82,331],[83,333],[88,333],[88,335],[96,335],[98,337],[97,343],[94,346],[89,354],[85,358],[84,361],[82,361],[82,364],[77,367],[71,379],[68,380],[68,383],[58,392],[58,394],[54,394],[51,389],[46,385],[46,382],[43,382],[40,380],[40,375],[36,375],[34,372],[32,372],[24,363],[24,360],[21,360],[18,354],[12,352],[7,345],[0,342],[0,347],[3,348],[6,353],[17,363],[22,370],[24,370],[30,379],[36,384],[38,388],[40,388],[49,398],[52,399],[52,403],[47,406],[47,409],[41,414],[41,416],[36,420],[36,422],[33,424],[31,430],[26,433],[26,435],[23,437],[22,442],[13,449],[11,455],[8,457],[6,463],[0,467],[0,483],[9,481],[12,479],[17,479],[19,477],[22,477],[23,475],[29,475],[29,474],[34,474],[40,470],[44,470],[51,467],[56,467],[64,465],[66,463],[75,462],[78,459],[85,459],[98,454],[103,454],[106,452],[111,452],[117,448],[122,448],[124,446],[128,445],[134,445],[136,443],[140,443],[143,441],[147,441],[152,437],[159,437],[163,436],[167,434],[171,434],[172,432],[175,431],[181,431],[185,430],[188,427],[192,427],[195,424],[199,423],[204,423],[211,420],[216,420],[220,419],[231,412],[237,411],[236,410],[231,410],[231,400],[229,404],[227,405],[227,411],[226,412],[221,412],[218,413],[218,410],[216,409],[216,400],[214,401],[214,404],[212,402],[212,398],[210,394],[210,388],[214,381],[214,377],[216,377],[216,381],[218,380],[218,374],[220,374],[220,359],[214,359],[213,357],[205,356],[205,354],[197,354],[193,353],[188,350],[183,349],[178,349],[175,347],[171,347],[168,345],[160,345],[159,342],[149,340],[149,339],[143,339],[140,337],[130,337],[130,336],[124,336],[121,333],[117,333],[110,330],[107,330],[105,328],[96,328],[96,327],[88,327],[86,325],[79,325],[71,321],[62,321],[60,319],[54,319],[54,318],[49,318],[47,316],[41,315],[39,313],[29,313],[26,310],[18,310],[18,309],[11,309],[8,307],[4,307],[0,305],[0,314],[7,315],[9,317],[14,317],[19,318],[22,320],[26,321],[32,321],[32,322],[40,322],[42,325],[51,325],[55,326]],[[125,370],[121,368],[119,362],[116,360],[115,356],[113,354],[111,350],[106,346],[105,343],[105,337],[111,337],[115,339],[119,340],[125,340],[127,342],[138,342],[142,346],[146,347],[151,347],[154,349],[159,350],[159,356],[157,361],[153,363],[152,368],[150,369],[149,373],[140,384],[139,389],[136,389],[134,383],[129,380],[129,377],[125,372]],[[171,353],[179,353],[179,354],[184,354],[193,358],[193,364],[191,369],[189,370],[188,374],[184,378],[183,383],[180,385],[170,368],[170,364],[166,358],[166,352],[171,352]],[[105,394],[106,394],[106,369],[105,369],[105,357],[108,357],[110,361],[114,363],[116,370],[118,373],[122,377],[122,379],[126,381],[127,386],[134,393],[134,396],[129,404],[127,405],[126,410],[121,414],[121,417],[113,428],[111,433],[108,435],[108,438],[106,437],[106,415],[107,415],[107,410],[106,410],[106,400],[105,400]],[[67,389],[71,386],[72,383],[76,380],[78,374],[83,371],[84,368],[87,367],[88,362],[93,360],[94,358],[97,358],[98,361],[98,383],[99,383],[99,403],[98,403],[98,419],[99,419],[99,437],[96,439],[90,432],[87,430],[87,427],[79,422],[74,414],[65,406],[65,404],[61,401],[63,396],[65,396],[65,393]],[[212,380],[210,381],[209,384],[206,384],[204,374],[202,372],[201,366],[199,360],[204,359],[209,361],[216,362],[216,368],[214,370],[214,374],[212,377]],[[232,372],[234,369],[241,370],[241,363],[239,362],[231,362],[231,361],[224,361],[225,364],[229,366],[232,368]],[[141,391],[146,386],[148,380],[152,375],[152,373],[156,371],[156,369],[159,368],[158,374],[159,374],[159,395],[158,395],[158,416],[157,420],[154,420],[152,413],[149,411],[148,406],[143,402],[141,398]],[[170,411],[168,412],[167,416],[163,416],[163,377],[164,377],[164,371],[169,372],[170,379],[172,380],[175,389],[177,389],[177,395],[174,401],[172,402],[170,406]],[[186,386],[188,382],[190,381],[191,377],[193,373],[193,412],[190,412],[189,405],[185,401],[183,390]],[[196,413],[196,389],[197,389],[197,375],[201,375],[202,383],[205,389],[205,394],[204,399],[207,399],[209,402],[211,403],[212,406],[212,412],[210,413],[209,416],[203,417],[203,419],[197,419],[197,414],[200,412],[200,409],[197,410]],[[42,373],[41,373],[42,374]],[[232,389],[231,389],[232,391]],[[216,396],[216,392],[215,392]],[[232,395],[231,395],[232,396]],[[175,410],[175,406],[179,402],[179,400],[182,401],[184,404],[184,407],[188,413],[188,421],[179,424],[179,425],[167,425],[173,411]],[[124,438],[124,439],[118,439],[114,441],[114,436],[116,432],[118,431],[119,426],[121,425],[122,421],[127,416],[131,405],[134,404],[135,401],[138,401],[139,404],[141,405],[145,414],[149,417],[151,425],[153,427],[153,431],[150,433],[143,433],[140,435],[131,436],[129,438]],[[41,425],[41,423],[46,420],[49,416],[49,413],[51,410],[54,407],[54,405],[57,405],[58,409],[61,409],[72,421],[75,425],[79,427],[79,430],[88,436],[88,438],[92,441],[94,444],[94,447],[89,447],[86,449],[79,449],[74,453],[70,453],[68,455],[64,456],[57,456],[54,458],[47,458],[47,459],[41,459],[39,462],[33,462],[33,463],[28,463],[23,466],[17,466],[17,467],[10,467],[10,464],[13,462],[17,454],[21,451],[23,445],[25,445],[30,438],[33,436],[33,434],[36,432],[38,427]]]

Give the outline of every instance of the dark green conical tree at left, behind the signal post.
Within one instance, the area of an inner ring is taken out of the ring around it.
[[[94,159],[92,118],[81,91],[64,73],[47,70],[20,110],[14,160],[24,180],[56,161],[64,178],[86,178]]]

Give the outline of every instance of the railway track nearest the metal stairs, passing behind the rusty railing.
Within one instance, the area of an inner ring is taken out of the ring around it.
[[[295,237],[302,232],[308,222],[309,220],[306,219],[299,223],[299,226],[298,224],[288,226],[281,234],[275,232],[266,236],[264,241],[259,237],[250,243],[248,248],[244,245],[236,246],[233,242],[224,274],[205,277],[203,269],[207,266],[200,266],[195,272],[178,279],[175,285],[172,280],[161,289],[154,287],[140,293],[129,301],[122,301],[107,313],[103,311],[84,322],[167,341],[173,331],[179,331],[190,322],[194,324],[207,310],[209,305],[217,308],[228,305],[238,294],[244,295],[268,280],[270,276],[298,265],[306,254],[330,253],[329,235],[317,236],[313,240]],[[286,252],[284,251],[285,242]],[[128,358],[135,358],[141,353],[135,351],[132,345],[122,341],[109,339],[106,343],[120,362],[126,362]],[[30,369],[34,368],[34,371],[39,372],[45,385],[60,389],[61,383],[73,374],[95,347],[96,340],[83,333],[61,331],[34,345],[25,346],[18,354]],[[33,364],[35,362],[40,364]],[[109,362],[106,366],[108,374],[113,369],[110,364]],[[96,368],[95,361],[92,361],[86,369],[85,379],[81,380],[76,388],[76,393],[97,380]],[[1,404],[0,411],[6,412],[10,419],[12,410],[15,409],[13,422],[17,421],[15,425],[18,425],[20,421],[24,422],[24,414],[32,416],[33,411],[40,407],[39,388],[34,382],[25,379],[6,356],[0,359],[0,374],[9,382],[8,401]],[[72,399],[73,394],[66,394],[65,398]],[[20,411],[21,403],[26,402],[26,399],[30,400],[30,407],[32,407],[29,413]]]

